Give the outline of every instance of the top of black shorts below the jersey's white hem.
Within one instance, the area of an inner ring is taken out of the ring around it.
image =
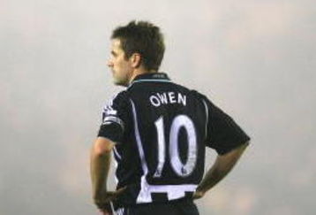
[[[119,208],[117,215],[199,215],[199,211],[192,200],[185,200],[137,204]]]

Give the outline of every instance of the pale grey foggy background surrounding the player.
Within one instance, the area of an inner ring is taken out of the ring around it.
[[[252,137],[200,214],[314,214],[314,1],[0,0],[0,215],[97,214],[89,150],[123,89],[109,36],[132,19],[162,28],[161,71]]]

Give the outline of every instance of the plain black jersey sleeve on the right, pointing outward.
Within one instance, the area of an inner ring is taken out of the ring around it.
[[[207,146],[223,155],[250,140],[244,130],[228,114],[215,106],[206,96]]]

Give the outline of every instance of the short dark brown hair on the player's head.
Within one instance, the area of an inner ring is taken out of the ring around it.
[[[124,27],[117,27],[111,39],[121,41],[126,59],[131,58],[133,53],[139,53],[141,63],[147,70],[159,69],[165,50],[159,27],[147,21],[133,20]]]

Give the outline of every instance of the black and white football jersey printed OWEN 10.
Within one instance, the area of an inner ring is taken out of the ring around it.
[[[165,73],[138,75],[102,111],[98,136],[117,142],[118,202],[167,202],[192,197],[204,173],[205,149],[219,154],[249,137],[206,96]]]

